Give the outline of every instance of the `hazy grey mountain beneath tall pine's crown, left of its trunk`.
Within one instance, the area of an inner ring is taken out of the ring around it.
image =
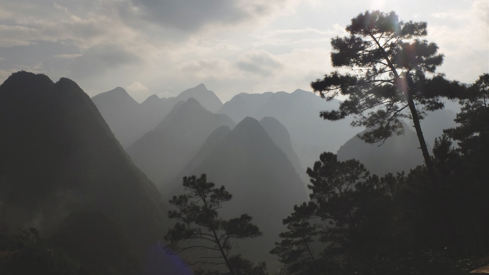
[[[405,171],[423,164],[423,156],[416,132],[405,123],[404,134],[387,138],[385,143],[365,143],[357,136],[350,138],[337,152],[338,160],[356,159],[365,165],[371,174]],[[366,131],[366,130],[365,130]],[[362,135],[365,131],[359,133]],[[428,149],[429,150],[429,149]]]

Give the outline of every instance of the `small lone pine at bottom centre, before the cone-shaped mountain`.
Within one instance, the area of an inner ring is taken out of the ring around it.
[[[205,174],[200,178],[184,177],[183,186],[190,192],[170,200],[170,204],[177,206],[178,210],[169,211],[168,216],[178,220],[178,223],[164,237],[170,242],[169,247],[177,253],[196,249],[213,251],[200,256],[201,260],[188,264],[225,265],[228,269],[226,273],[211,271],[205,274],[263,274],[264,263],[254,266],[241,255],[229,256],[232,241],[255,238],[262,232],[246,214],[229,220],[219,218],[217,209],[232,198],[224,186],[214,188],[214,183],[208,183]]]

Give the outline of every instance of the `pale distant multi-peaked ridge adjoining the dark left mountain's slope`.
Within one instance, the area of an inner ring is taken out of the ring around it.
[[[92,101],[115,137],[127,148],[144,134],[155,129],[179,101],[187,101],[191,97],[214,113],[222,107],[217,95],[207,90],[203,84],[187,89],[176,97],[159,98],[153,94],[141,104],[120,87],[97,94],[92,97]]]

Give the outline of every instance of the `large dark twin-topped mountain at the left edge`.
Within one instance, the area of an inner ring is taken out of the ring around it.
[[[133,248],[158,238],[160,194],[76,83],[14,73],[0,86],[0,110],[2,222],[53,231],[70,212],[97,211]]]

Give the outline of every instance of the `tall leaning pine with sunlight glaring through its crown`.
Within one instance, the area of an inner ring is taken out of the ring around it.
[[[314,92],[328,100],[338,94],[347,97],[338,110],[324,111],[320,116],[339,120],[354,115],[353,126],[369,131],[360,138],[374,143],[403,132],[400,118],[413,121],[429,177],[438,187],[435,171],[423,138],[420,119],[425,111],[443,108],[440,96],[456,96],[459,85],[443,75],[432,78],[443,62],[438,46],[419,38],[427,35],[426,22],[403,22],[395,12],[380,11],[359,14],[346,27],[350,36],[331,41],[334,71],[311,83]],[[409,112],[402,112],[403,110]]]

